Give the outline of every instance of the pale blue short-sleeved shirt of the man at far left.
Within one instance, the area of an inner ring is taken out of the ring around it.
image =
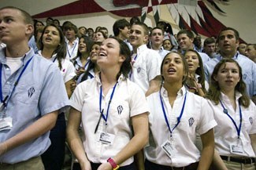
[[[3,98],[10,94],[24,65],[33,58],[9,99],[6,117],[13,118],[13,128],[0,131],[0,143],[17,135],[44,115],[69,105],[64,81],[55,63],[38,56],[30,49],[21,59],[23,66],[10,74],[5,49],[0,49]],[[49,134],[50,132],[46,132],[37,139],[9,150],[0,156],[0,162],[15,164],[43,154],[50,146]]]

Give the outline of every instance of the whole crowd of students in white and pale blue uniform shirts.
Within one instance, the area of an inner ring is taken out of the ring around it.
[[[138,17],[113,34],[0,9],[0,170],[61,170],[65,142],[73,170],[256,168],[254,44]]]

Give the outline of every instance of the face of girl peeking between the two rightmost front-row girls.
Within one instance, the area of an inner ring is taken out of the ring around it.
[[[196,69],[200,67],[198,55],[195,52],[188,51],[185,53],[185,59],[187,60],[188,71],[195,74]]]

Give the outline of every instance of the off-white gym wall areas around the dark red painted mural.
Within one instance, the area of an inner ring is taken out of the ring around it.
[[[14,5],[21,9],[28,11],[31,15],[42,13],[46,10],[56,8],[61,5],[75,2],[74,0],[2,0],[0,7],[6,5]],[[256,0],[230,0],[230,2],[224,4],[223,2],[216,1],[226,15],[217,13],[214,9],[210,8],[213,16],[220,20],[227,27],[234,27],[239,31],[240,37],[246,42],[256,43]],[[112,26],[115,20],[121,19],[119,16],[115,16],[112,13],[91,13],[87,15],[77,16],[61,16],[55,17],[63,23],[65,20],[71,20],[78,27],[92,27],[104,26],[109,29],[109,34],[113,34]],[[127,18],[129,20],[129,18]],[[41,19],[40,19],[41,20]],[[45,19],[42,19],[44,21]],[[169,21],[173,26],[173,31],[176,33],[179,31],[179,27],[173,21],[170,16],[166,5],[161,5],[161,20]],[[145,23],[154,27],[154,18],[152,13],[147,15]]]

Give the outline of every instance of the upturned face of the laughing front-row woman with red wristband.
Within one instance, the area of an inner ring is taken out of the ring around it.
[[[118,67],[124,62],[124,56],[120,55],[120,44],[113,38],[107,38],[102,42],[99,56],[97,57],[98,66],[101,69]]]

